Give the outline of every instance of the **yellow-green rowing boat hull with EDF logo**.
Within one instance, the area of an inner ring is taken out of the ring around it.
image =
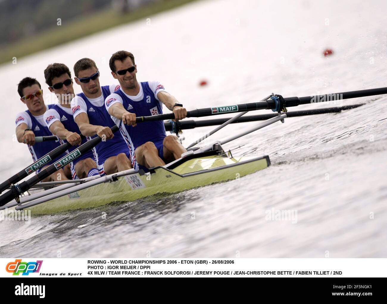
[[[159,167],[153,172],[135,173],[53,199],[27,209],[36,214],[91,208],[113,201],[134,201],[158,193],[174,193],[237,179],[270,165],[269,156],[236,157],[212,155],[185,161],[172,170]]]

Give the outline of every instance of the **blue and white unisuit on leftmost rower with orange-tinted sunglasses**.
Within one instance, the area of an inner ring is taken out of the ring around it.
[[[51,109],[54,105],[46,105],[47,110]],[[34,131],[35,136],[52,136],[52,133],[46,126],[43,115],[34,116],[29,112],[29,110],[17,113],[16,115],[16,127],[22,123],[26,124],[29,129]],[[57,148],[60,146],[59,141],[44,141],[41,143],[35,143],[33,146],[28,147],[32,159],[34,161],[37,161],[42,156],[45,156],[48,152],[51,150]],[[57,158],[51,160],[50,162],[46,163],[47,165],[51,165],[58,159],[62,158],[66,154],[63,153],[62,155],[58,156]],[[45,165],[46,165],[45,164]],[[40,169],[36,170],[36,173],[40,172]]]

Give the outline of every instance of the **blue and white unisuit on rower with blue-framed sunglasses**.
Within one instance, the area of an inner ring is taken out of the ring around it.
[[[101,125],[103,127],[113,127],[114,122],[104,107],[104,100],[109,94],[113,93],[119,86],[102,86],[102,95],[99,98],[89,99],[84,93],[77,94],[71,101],[72,115],[75,119],[79,113],[86,113],[89,117],[89,123],[92,125]],[[87,137],[90,140],[95,136]],[[125,153],[130,158],[130,153],[126,142],[120,133],[116,132],[112,139],[101,141],[93,148],[94,159],[98,165],[99,174],[105,175],[103,165],[105,161],[120,153]]]

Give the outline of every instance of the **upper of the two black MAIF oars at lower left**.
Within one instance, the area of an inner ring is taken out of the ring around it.
[[[79,135],[80,135],[81,139],[85,138],[82,134],[79,134]],[[36,143],[39,143],[41,141],[48,141],[48,140],[58,140],[58,138],[56,136],[38,136],[38,137],[35,137]],[[24,177],[35,172],[39,168],[45,166],[48,162],[55,159],[57,156],[61,155],[62,153],[64,153],[70,147],[71,147],[70,143],[65,143],[65,144],[60,145],[59,147],[48,152],[45,156],[42,156],[41,158],[39,158],[33,164],[29,165],[28,167],[24,168],[20,172],[16,173],[14,176],[7,179],[5,182],[2,182],[0,184],[0,193],[3,192],[5,189],[7,189],[10,185],[19,182],[20,180],[24,179]]]

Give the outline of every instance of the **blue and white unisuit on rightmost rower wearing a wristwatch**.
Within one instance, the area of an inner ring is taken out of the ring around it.
[[[119,102],[128,112],[135,113],[136,117],[162,114],[163,104],[157,97],[160,91],[165,89],[158,81],[140,82],[140,91],[136,96],[127,95],[120,88],[106,98],[105,107],[108,109]],[[166,134],[163,120],[144,122],[132,127],[124,124],[120,119],[111,118],[120,128],[128,146],[134,146],[134,149],[137,149],[147,141],[151,141],[158,149],[159,157],[164,160],[163,140]]]

